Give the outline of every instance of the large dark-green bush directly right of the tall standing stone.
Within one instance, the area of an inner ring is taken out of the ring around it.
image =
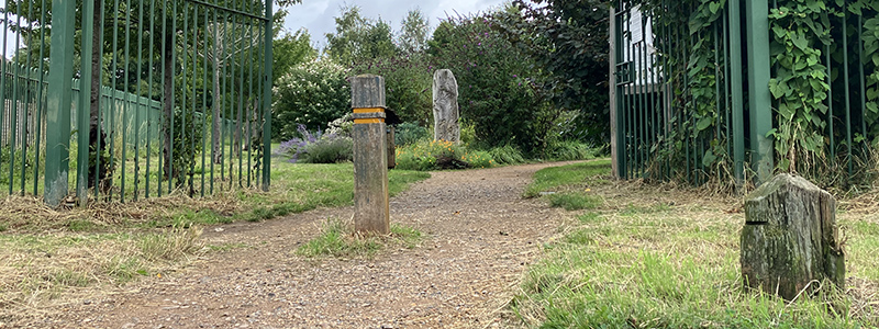
[[[448,18],[434,31],[427,53],[436,68],[455,75],[460,115],[479,141],[541,157],[559,112],[546,106],[534,61],[496,30],[498,15]]]

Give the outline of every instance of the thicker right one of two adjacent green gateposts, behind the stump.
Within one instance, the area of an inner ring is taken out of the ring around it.
[[[735,2],[733,2],[735,3]],[[748,47],[748,102],[750,123],[752,168],[757,173],[757,184],[772,177],[775,167],[772,139],[766,134],[772,129],[772,101],[769,97],[769,2],[753,0],[747,3]]]

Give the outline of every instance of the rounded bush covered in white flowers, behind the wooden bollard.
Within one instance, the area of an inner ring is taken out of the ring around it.
[[[348,69],[325,57],[300,64],[279,78],[274,90],[272,137],[288,140],[308,131],[325,129],[326,123],[351,110]]]

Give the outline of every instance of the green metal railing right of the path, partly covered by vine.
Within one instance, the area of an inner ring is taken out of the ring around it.
[[[871,143],[879,122],[868,107],[877,90],[870,77],[879,73],[863,55],[869,48],[863,36],[864,22],[876,20],[877,10],[854,14],[846,1],[838,15],[825,15],[827,39],[810,41],[822,53],[811,65],[826,67],[821,82],[827,84],[827,111],[814,112],[814,126],[822,128],[813,149],[802,150],[797,138],[805,137],[778,137],[790,121],[780,111],[782,93],[770,92],[790,75],[774,60],[785,45],[771,35],[785,31],[771,23],[783,20],[772,15],[788,2],[616,1],[611,80],[617,177],[741,186],[790,170],[848,186],[875,175]],[[815,90],[816,98],[824,95],[823,87]],[[779,151],[786,149],[779,140],[794,149]]]

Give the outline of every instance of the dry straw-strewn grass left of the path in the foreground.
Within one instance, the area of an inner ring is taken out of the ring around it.
[[[0,236],[0,320],[36,316],[173,270],[202,252],[200,236],[197,227],[140,235]]]

